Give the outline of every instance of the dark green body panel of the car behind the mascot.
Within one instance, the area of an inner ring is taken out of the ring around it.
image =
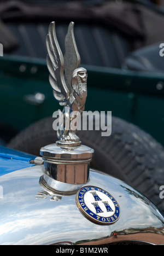
[[[112,111],[112,115],[138,125],[164,145],[164,75],[95,66],[86,68],[85,110]],[[0,58],[0,75],[1,124],[21,131],[62,109],[52,95],[45,60],[4,56]],[[45,97],[42,104],[27,101],[27,95],[37,92]]]

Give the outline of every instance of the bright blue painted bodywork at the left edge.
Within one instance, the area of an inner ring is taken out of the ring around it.
[[[34,164],[30,164],[30,160],[34,158],[36,158],[34,155],[0,147],[0,176],[33,166]]]

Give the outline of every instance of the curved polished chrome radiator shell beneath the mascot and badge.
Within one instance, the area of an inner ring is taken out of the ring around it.
[[[43,165],[36,165],[0,177],[1,245],[112,245],[125,241],[164,244],[163,214],[143,194],[119,179],[90,169],[85,185],[107,190],[120,206],[117,222],[98,225],[78,210],[77,191],[71,195],[48,193],[40,186],[42,176]]]

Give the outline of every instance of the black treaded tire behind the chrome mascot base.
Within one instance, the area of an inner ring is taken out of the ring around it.
[[[27,127],[8,144],[23,152],[39,155],[39,149],[55,143],[54,118],[42,119]],[[164,149],[139,127],[112,118],[112,135],[101,131],[78,131],[82,144],[95,150],[91,167],[120,178],[149,197],[164,211],[160,186],[164,185]]]

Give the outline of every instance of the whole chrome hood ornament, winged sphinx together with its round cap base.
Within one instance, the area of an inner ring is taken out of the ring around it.
[[[71,126],[74,118],[78,122],[87,96],[87,71],[80,67],[73,27],[74,22],[71,22],[65,38],[64,56],[57,41],[55,22],[51,22],[46,37],[49,82],[54,97],[64,106],[62,115],[69,117],[69,124],[59,125],[58,141],[55,144],[40,149],[44,160],[44,175],[40,178],[40,184],[44,188],[59,191],[60,194],[72,194],[89,181],[89,166],[94,152],[93,149],[81,145],[75,129]]]

